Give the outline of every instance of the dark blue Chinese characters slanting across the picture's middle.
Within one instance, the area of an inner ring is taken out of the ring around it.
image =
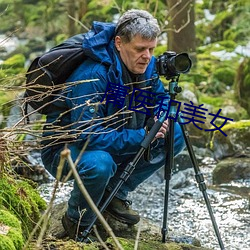
[[[201,128],[199,125],[205,123],[204,120],[206,120],[207,116],[211,116],[212,120],[210,121],[210,124],[212,127],[210,129],[204,129],[204,131],[217,130],[220,131],[224,136],[227,135],[222,131],[223,126],[227,123],[227,121],[233,121],[231,118],[222,116],[221,109],[219,109],[216,114],[213,114],[208,112],[208,109],[203,108],[203,104],[196,106],[190,101],[190,104],[184,103],[184,108],[181,110],[182,103],[176,100],[170,100],[168,96],[158,96],[157,102],[155,102],[155,94],[150,91],[133,88],[132,93],[129,93],[129,90],[130,88],[128,86],[109,83],[102,102],[105,99],[106,103],[113,103],[114,106],[123,108],[126,97],[131,94],[128,106],[129,110],[150,115],[149,109],[156,106],[155,115],[157,117],[159,117],[162,112],[167,112],[166,119],[174,119],[175,122],[178,121],[180,124],[193,123],[195,127],[200,130],[203,130],[203,128]],[[132,103],[136,103],[136,105],[133,106]],[[175,108],[173,109],[173,107]],[[180,117],[181,119],[179,119]],[[216,119],[220,119],[223,122],[221,122],[218,126],[215,123]]]

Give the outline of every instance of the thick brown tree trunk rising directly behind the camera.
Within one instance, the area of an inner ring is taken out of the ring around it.
[[[167,0],[169,9],[168,50],[187,52],[195,61],[195,0]]]

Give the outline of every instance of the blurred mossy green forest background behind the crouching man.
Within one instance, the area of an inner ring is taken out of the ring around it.
[[[223,115],[235,121],[249,118],[247,0],[0,0],[0,33],[4,34],[0,40],[1,127],[11,107],[2,104],[23,90],[27,66],[35,56],[86,32],[94,20],[116,22],[131,8],[148,10],[158,19],[162,32],[155,56],[165,51],[189,53],[193,66],[188,75],[181,76],[180,84],[195,93],[196,105],[214,112],[222,109]],[[14,38],[19,43],[8,52],[5,44]]]

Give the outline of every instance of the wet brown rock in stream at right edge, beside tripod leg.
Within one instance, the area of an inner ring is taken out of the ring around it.
[[[213,171],[213,183],[228,183],[233,180],[250,179],[250,158],[227,158],[219,162]]]

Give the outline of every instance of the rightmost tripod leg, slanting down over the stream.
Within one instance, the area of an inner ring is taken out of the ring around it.
[[[217,226],[214,214],[213,214],[213,210],[212,210],[212,207],[211,207],[211,204],[210,204],[210,201],[208,199],[207,192],[206,192],[207,188],[206,188],[206,184],[204,182],[204,177],[203,177],[203,174],[201,173],[201,171],[199,169],[198,162],[197,162],[197,159],[195,157],[195,154],[194,154],[191,142],[190,142],[189,133],[188,133],[188,131],[186,129],[186,126],[183,124],[183,122],[184,121],[180,122],[181,130],[183,132],[183,136],[184,136],[184,139],[185,139],[185,142],[186,142],[186,146],[187,146],[187,149],[188,149],[190,159],[191,159],[191,161],[193,163],[193,167],[194,167],[194,171],[195,171],[195,179],[196,179],[196,181],[197,181],[197,183],[199,185],[200,191],[203,194],[203,197],[204,197],[204,200],[205,200],[205,203],[206,203],[206,206],[207,206],[207,210],[209,212],[209,215],[210,215],[210,218],[211,218],[211,221],[212,221],[212,224],[213,224],[213,228],[214,228],[216,237],[218,239],[220,248],[221,248],[221,250],[224,250],[225,247],[223,245],[223,242],[222,242],[222,239],[221,239],[221,236],[220,236],[220,232],[219,232],[219,229],[218,229],[218,226]]]

